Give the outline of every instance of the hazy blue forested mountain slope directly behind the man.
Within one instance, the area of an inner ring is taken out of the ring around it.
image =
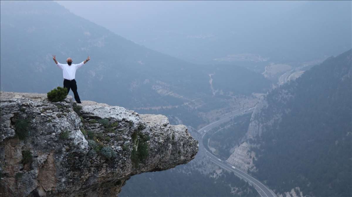
[[[213,96],[213,73],[247,87],[227,88],[216,81],[216,88],[231,94],[270,87],[263,76],[241,67],[195,65],[137,45],[52,1],[1,1],[0,25],[4,91],[46,93],[62,86],[62,71],[52,61],[53,54],[61,63],[67,57],[79,63],[90,55],[91,61],[76,73],[81,99],[127,108],[177,106]],[[229,77],[227,67],[242,73],[246,81]]]

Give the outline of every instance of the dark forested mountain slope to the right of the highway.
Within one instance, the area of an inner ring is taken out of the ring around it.
[[[351,67],[348,50],[268,93],[228,161],[247,155],[249,169],[278,193],[351,196]]]

